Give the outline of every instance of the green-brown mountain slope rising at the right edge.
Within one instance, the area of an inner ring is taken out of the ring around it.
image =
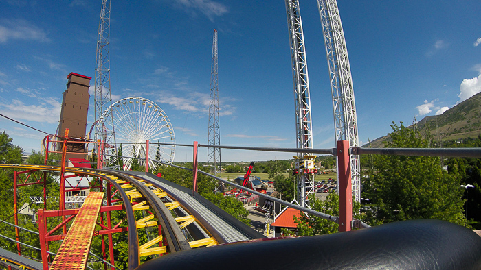
[[[417,123],[418,130],[425,135],[429,128],[434,140],[458,140],[475,138],[481,134],[481,93],[462,101],[443,114],[426,116]],[[410,126],[412,127],[412,125]],[[372,140],[371,147],[384,147],[388,135]],[[362,147],[369,147],[369,143]]]

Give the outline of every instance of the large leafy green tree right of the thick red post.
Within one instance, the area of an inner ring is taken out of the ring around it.
[[[422,138],[416,125],[407,128],[393,122],[391,127],[385,147],[428,147],[429,138]],[[373,156],[372,168],[363,183],[363,197],[375,205],[378,222],[441,219],[465,225],[460,178],[443,170],[438,157]]]

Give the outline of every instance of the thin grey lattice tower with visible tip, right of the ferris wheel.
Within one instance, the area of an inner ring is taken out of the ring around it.
[[[214,29],[212,42],[212,66],[210,71],[210,102],[209,102],[209,145],[221,145],[221,134],[219,132],[219,80],[217,62],[217,30]],[[221,149],[208,147],[208,164],[214,166],[214,175],[221,173]]]

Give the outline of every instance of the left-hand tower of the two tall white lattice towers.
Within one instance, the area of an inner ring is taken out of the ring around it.
[[[295,95],[295,130],[297,148],[312,148],[311,97],[309,94],[309,77],[307,75],[306,50],[302,20],[298,0],[286,0],[289,40],[291,42],[291,62]],[[299,153],[298,157],[304,156]],[[297,201],[300,206],[309,206],[307,196],[314,192],[312,175],[298,174]]]

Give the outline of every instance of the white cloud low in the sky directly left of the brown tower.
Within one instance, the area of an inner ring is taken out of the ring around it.
[[[60,119],[60,102],[53,98],[39,99],[38,104],[25,105],[22,101],[1,104],[0,112],[15,120],[28,120],[39,123],[58,123]]]

